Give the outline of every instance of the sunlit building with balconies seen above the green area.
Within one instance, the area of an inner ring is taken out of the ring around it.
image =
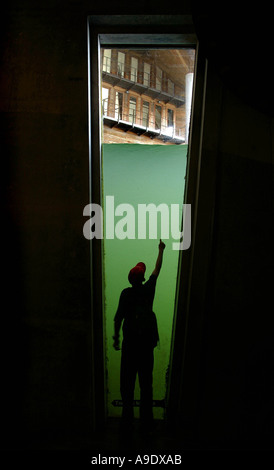
[[[105,143],[184,144],[195,51],[102,49]]]

